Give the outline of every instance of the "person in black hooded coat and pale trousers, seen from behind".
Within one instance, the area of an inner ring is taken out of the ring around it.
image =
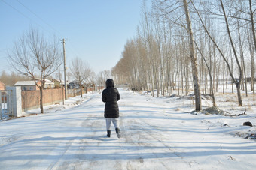
[[[113,79],[107,79],[106,86],[107,88],[102,92],[102,102],[105,102],[104,117],[106,120],[107,136],[110,137],[111,135],[110,127],[111,122],[113,122],[117,137],[120,138],[121,136],[118,124],[119,108],[117,104],[117,101],[120,100],[120,94],[117,88],[114,88]]]

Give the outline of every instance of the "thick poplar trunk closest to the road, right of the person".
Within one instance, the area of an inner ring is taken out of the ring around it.
[[[190,59],[192,64],[196,110],[200,111],[202,109],[202,105],[201,105],[200,85],[198,82],[198,73],[197,73],[197,58],[195,56],[195,51],[194,51],[194,37],[193,37],[193,32],[191,27],[190,15],[187,8],[187,0],[183,0],[183,4],[184,4],[184,11],[186,13],[186,19],[187,19],[187,31],[190,38]]]

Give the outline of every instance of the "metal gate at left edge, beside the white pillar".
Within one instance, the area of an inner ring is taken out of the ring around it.
[[[13,97],[13,91],[0,91],[0,118],[1,121],[7,120],[11,117],[13,113],[13,100],[11,100]]]

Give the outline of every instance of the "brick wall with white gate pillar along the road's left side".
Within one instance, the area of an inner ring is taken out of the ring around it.
[[[97,87],[102,89],[103,87]],[[82,94],[96,91],[96,88],[83,88]],[[43,105],[62,103],[64,100],[62,88],[44,89]],[[80,95],[80,89],[68,89],[68,97]],[[21,91],[20,87],[6,87],[6,91],[0,91],[0,118],[6,119],[10,116],[19,117],[22,112],[40,107],[40,91]]]

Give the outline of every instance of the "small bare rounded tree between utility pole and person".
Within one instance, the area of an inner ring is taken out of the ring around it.
[[[81,58],[74,58],[72,60],[72,64],[70,65],[70,71],[72,76],[74,76],[75,80],[78,81],[80,86],[80,95],[83,97],[83,84],[90,76],[90,67],[86,61]]]

